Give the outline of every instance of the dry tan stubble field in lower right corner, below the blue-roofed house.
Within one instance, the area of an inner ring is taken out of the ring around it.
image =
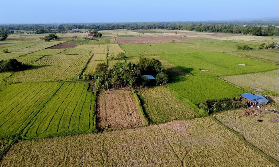
[[[263,117],[261,118],[254,116],[236,118],[243,111],[233,110],[221,112],[215,114],[214,117],[229,128],[239,132],[249,143],[278,161],[278,123],[269,121],[274,118],[275,114],[262,112],[261,115]],[[257,119],[261,119],[263,122],[258,122]]]

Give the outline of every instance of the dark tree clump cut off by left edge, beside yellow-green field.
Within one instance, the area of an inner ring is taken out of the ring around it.
[[[0,72],[22,71],[29,67],[31,66],[25,65],[16,59],[0,60]]]

